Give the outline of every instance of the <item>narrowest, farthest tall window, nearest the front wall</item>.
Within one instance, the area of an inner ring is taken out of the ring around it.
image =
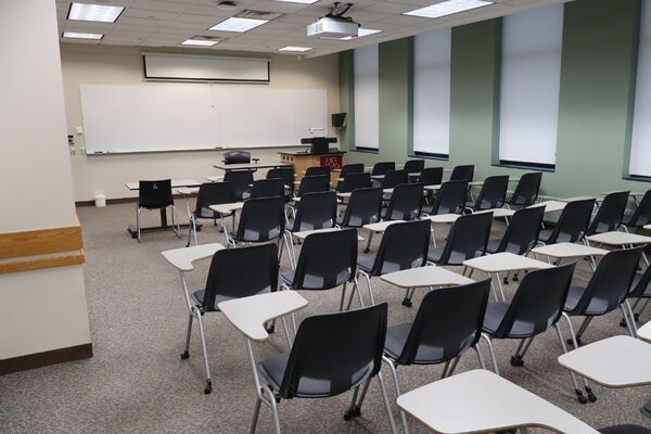
[[[379,47],[355,49],[355,148],[380,148]]]

